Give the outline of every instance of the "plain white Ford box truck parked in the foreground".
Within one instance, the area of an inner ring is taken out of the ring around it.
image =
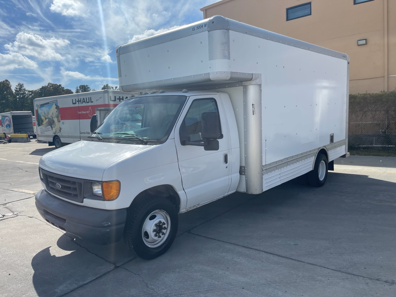
[[[120,88],[150,92],[39,163],[37,209],[74,236],[124,238],[152,259],[171,246],[178,213],[303,174],[320,187],[346,155],[343,53],[215,16],[116,57]]]

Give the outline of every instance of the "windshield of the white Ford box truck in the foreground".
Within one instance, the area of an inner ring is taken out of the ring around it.
[[[125,100],[105,118],[91,136],[100,135],[103,139],[127,138],[143,144],[165,142],[186,98],[182,95],[154,95]]]

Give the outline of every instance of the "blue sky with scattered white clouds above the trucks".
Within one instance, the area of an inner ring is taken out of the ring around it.
[[[216,0],[0,0],[0,81],[118,86],[118,46],[202,19]]]

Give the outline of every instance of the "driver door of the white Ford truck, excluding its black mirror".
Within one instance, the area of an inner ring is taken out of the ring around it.
[[[187,195],[187,208],[204,204],[223,197],[230,187],[231,144],[228,125],[219,95],[210,97],[191,96],[175,129],[175,143],[183,188]],[[223,137],[218,139],[218,150],[205,150],[202,146],[182,145],[180,141],[181,125],[190,141],[199,142],[201,138],[201,116],[204,112],[217,112]],[[185,131],[185,130],[184,130]]]

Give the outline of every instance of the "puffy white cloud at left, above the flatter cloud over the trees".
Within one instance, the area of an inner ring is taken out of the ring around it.
[[[36,57],[42,61],[60,61],[64,57],[57,50],[62,49],[69,43],[69,40],[63,38],[44,39],[36,34],[19,32],[15,41],[4,45],[4,48],[10,52],[19,52],[23,55]]]

